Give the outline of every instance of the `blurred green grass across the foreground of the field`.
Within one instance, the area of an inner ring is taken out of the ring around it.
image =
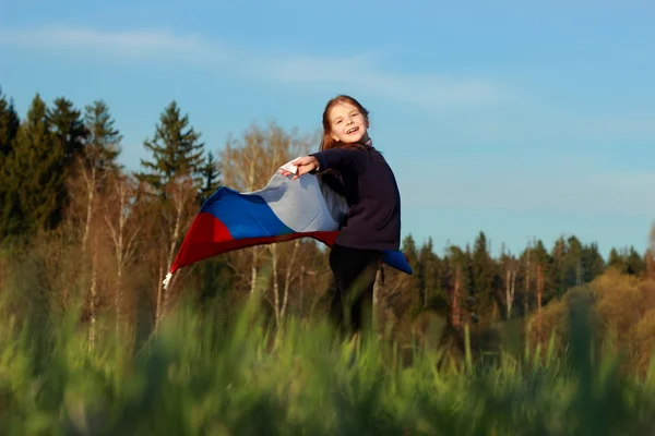
[[[619,372],[574,323],[564,354],[526,346],[461,363],[323,324],[273,332],[246,308],[229,331],[181,305],[131,349],[69,316],[0,324],[2,435],[647,435],[655,371]],[[107,328],[106,331],[112,331]]]

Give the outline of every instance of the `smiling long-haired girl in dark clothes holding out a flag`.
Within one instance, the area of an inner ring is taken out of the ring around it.
[[[318,173],[349,206],[330,251],[336,281],[331,315],[346,332],[361,330],[364,315],[370,314],[382,250],[398,250],[401,243],[401,195],[393,171],[372,146],[368,114],[353,97],[331,99],[323,111],[320,150],[293,161],[297,172],[291,181]]]

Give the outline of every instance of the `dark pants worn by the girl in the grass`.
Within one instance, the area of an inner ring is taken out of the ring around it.
[[[330,251],[330,268],[336,290],[330,315],[344,334],[362,329],[365,316],[372,315],[373,284],[382,259],[377,250],[350,249],[334,244]]]

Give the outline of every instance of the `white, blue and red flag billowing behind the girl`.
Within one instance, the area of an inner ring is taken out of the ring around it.
[[[295,172],[289,164],[282,168]],[[345,199],[313,174],[291,182],[276,173],[264,189],[249,193],[222,186],[194,218],[164,284],[187,265],[253,245],[313,238],[332,246],[346,213]],[[401,251],[385,251],[382,262],[413,272]]]

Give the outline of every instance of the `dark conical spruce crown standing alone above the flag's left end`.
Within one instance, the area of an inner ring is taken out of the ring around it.
[[[150,183],[157,193],[177,177],[189,175],[199,187],[203,182],[204,143],[200,133],[189,125],[189,116],[181,114],[174,100],[159,116],[153,140],[146,140],[144,147],[152,152],[153,160],[141,160],[150,172],[136,174],[139,180]]]

